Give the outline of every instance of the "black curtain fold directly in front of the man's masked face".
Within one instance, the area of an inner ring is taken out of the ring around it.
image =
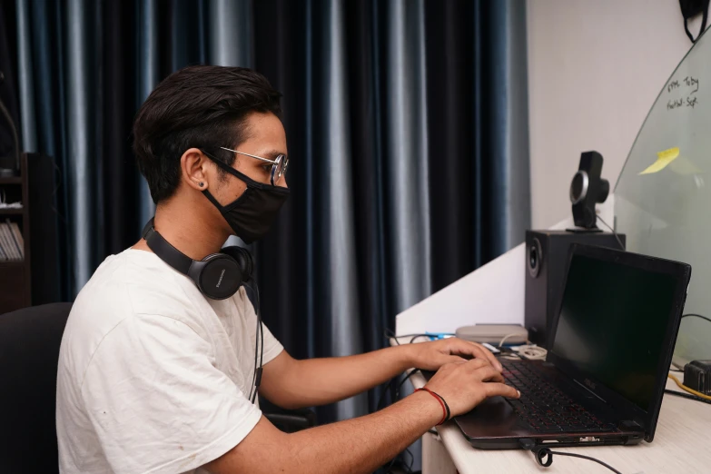
[[[287,183],[291,196],[281,209],[272,230],[255,245],[262,293],[262,316],[274,335],[293,357],[315,353],[315,314],[307,308],[313,272],[307,261],[307,173],[314,157],[306,152],[309,130],[303,91],[307,73],[293,64],[304,64],[307,11],[291,0],[262,0],[254,4],[254,31],[270,31],[255,37],[256,68],[283,94],[282,120],[287,134],[290,167]],[[295,251],[298,249],[298,251]],[[283,315],[291,315],[285,318]]]

